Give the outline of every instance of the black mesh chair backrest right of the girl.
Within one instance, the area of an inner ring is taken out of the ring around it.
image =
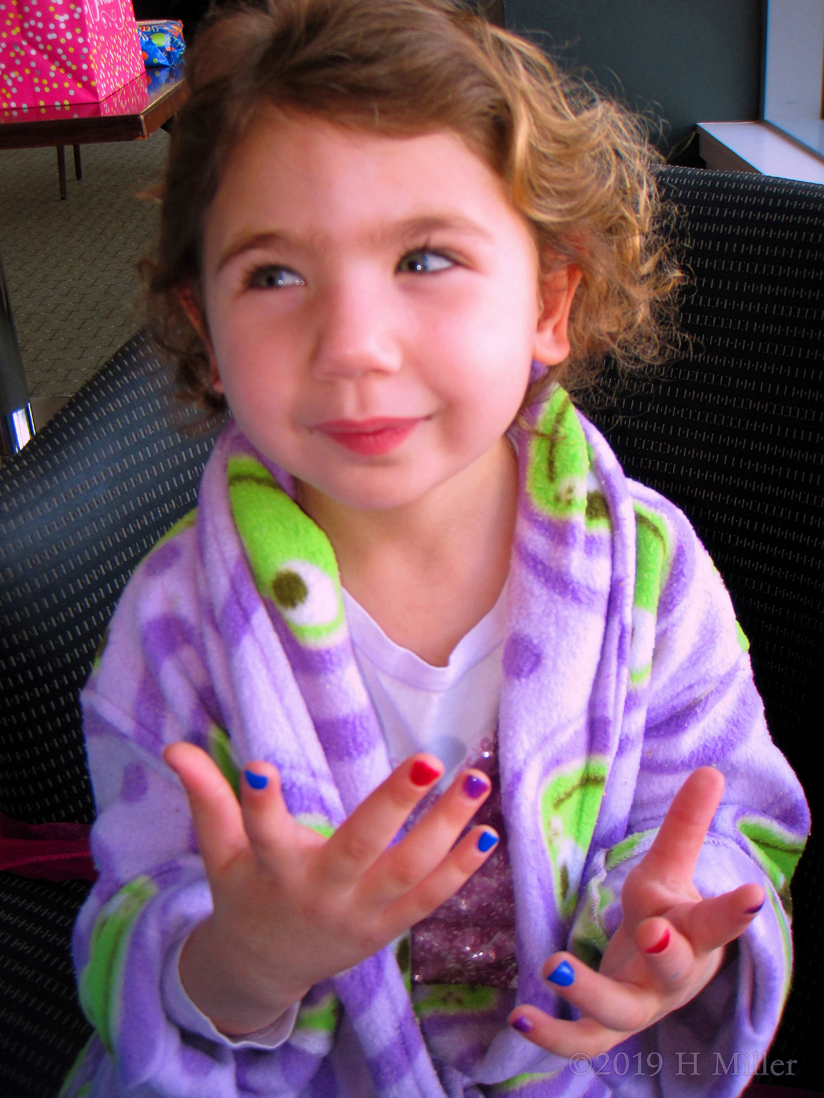
[[[804,1080],[787,1085],[821,1089],[824,186],[695,168],[665,168],[659,183],[680,213],[692,350],[652,378],[613,376],[589,411],[628,475],[677,503],[712,554],[773,739],[804,784],[814,830],[792,889],[804,960],[771,1056],[801,1060]]]

